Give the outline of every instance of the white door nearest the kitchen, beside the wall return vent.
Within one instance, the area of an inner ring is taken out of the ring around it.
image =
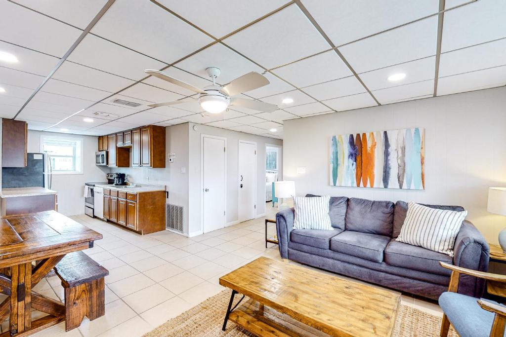
[[[203,231],[225,227],[225,139],[202,137]]]

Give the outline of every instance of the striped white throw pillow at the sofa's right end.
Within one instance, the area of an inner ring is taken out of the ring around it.
[[[408,203],[406,219],[397,241],[453,257],[453,245],[468,211],[439,210]]]

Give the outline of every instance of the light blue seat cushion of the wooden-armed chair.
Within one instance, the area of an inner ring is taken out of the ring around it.
[[[484,301],[506,307],[494,301]],[[438,302],[461,337],[488,337],[490,335],[495,314],[482,309],[477,298],[446,292],[441,294]]]

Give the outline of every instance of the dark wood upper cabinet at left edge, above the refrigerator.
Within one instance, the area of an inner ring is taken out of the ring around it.
[[[2,137],[2,166],[26,167],[28,124],[4,118]]]

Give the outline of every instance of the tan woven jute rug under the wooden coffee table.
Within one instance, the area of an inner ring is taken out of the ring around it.
[[[236,297],[237,299],[239,297]],[[162,336],[254,336],[232,322],[222,331],[223,319],[230,300],[230,290],[224,290],[181,315],[168,320],[144,337]],[[246,299],[245,299],[246,300]],[[237,301],[237,300],[236,300]],[[235,302],[234,302],[235,304]],[[441,318],[418,309],[401,305],[395,321],[393,337],[438,337]],[[453,328],[448,334],[458,337]]]

